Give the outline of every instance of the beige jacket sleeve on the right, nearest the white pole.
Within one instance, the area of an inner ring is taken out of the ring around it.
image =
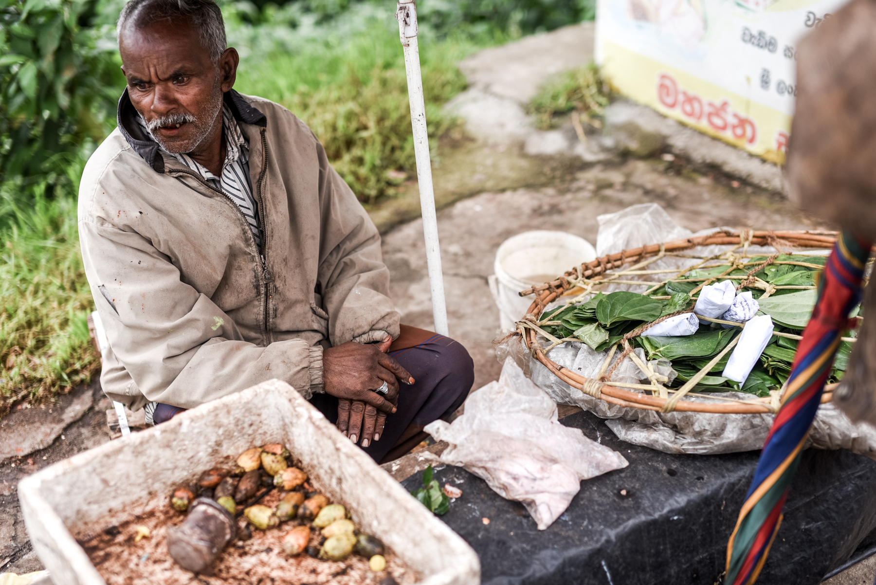
[[[318,142],[317,149],[323,235],[318,280],[329,340],[335,346],[395,339],[399,312],[390,298],[378,229]]]

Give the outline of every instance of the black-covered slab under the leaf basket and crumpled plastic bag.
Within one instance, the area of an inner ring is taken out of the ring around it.
[[[583,482],[548,530],[536,530],[522,504],[480,478],[436,469],[439,483],[463,490],[442,519],[477,551],[484,585],[719,582],[758,453],[668,455],[619,441],[589,412],[562,423],[618,450],[630,465]],[[413,490],[420,482],[418,473],[403,485]],[[874,528],[876,462],[809,449],[758,582],[815,585]]]

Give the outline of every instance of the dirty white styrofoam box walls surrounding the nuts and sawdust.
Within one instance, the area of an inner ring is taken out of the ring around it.
[[[314,487],[350,510],[420,575],[420,585],[475,585],[480,561],[463,539],[301,398],[271,380],[198,406],[141,433],[74,455],[18,483],[27,532],[55,585],[105,585],[71,536],[131,518],[205,469],[244,450],[283,443]]]

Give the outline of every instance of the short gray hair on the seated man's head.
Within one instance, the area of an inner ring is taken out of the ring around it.
[[[168,24],[180,20],[190,22],[214,63],[228,47],[222,11],[213,0],[130,0],[118,17],[117,31],[121,35],[129,24],[139,29],[162,20]]]

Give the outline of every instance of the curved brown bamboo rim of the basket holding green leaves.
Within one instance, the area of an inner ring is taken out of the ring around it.
[[[546,282],[542,285],[532,286],[525,291],[521,291],[519,295],[526,297],[531,294],[536,294],[535,300],[526,311],[526,315],[521,321],[518,321],[518,332],[522,335],[523,343],[530,354],[542,363],[556,377],[560,378],[566,384],[569,384],[580,391],[583,391],[590,396],[602,399],[605,402],[620,406],[629,406],[643,410],[651,410],[657,412],[707,412],[717,414],[762,414],[778,412],[781,405],[781,395],[776,393],[770,398],[751,398],[746,400],[725,401],[722,398],[712,398],[717,401],[717,404],[707,402],[694,402],[691,400],[673,398],[663,398],[661,396],[653,396],[644,392],[636,392],[625,390],[624,387],[606,384],[605,380],[595,380],[588,377],[583,377],[573,370],[564,368],[555,363],[544,352],[537,336],[539,332],[532,327],[526,326],[526,321],[538,321],[540,315],[544,312],[548,304],[560,298],[569,290],[574,288],[574,283],[583,278],[590,281],[598,281],[604,279],[604,274],[607,271],[618,269],[625,264],[642,262],[646,258],[657,259],[663,257],[670,252],[679,252],[682,250],[690,250],[699,246],[709,245],[736,245],[738,250],[740,247],[747,248],[753,245],[773,246],[776,250],[789,248],[832,248],[837,241],[836,231],[809,231],[809,230],[785,230],[785,231],[757,231],[753,229],[722,229],[706,236],[689,237],[682,240],[675,240],[666,243],[653,243],[639,248],[622,250],[615,254],[608,254],[604,257],[598,257],[590,262],[575,266],[569,271],[566,271],[562,277],[556,278],[553,281]],[[788,252],[786,252],[788,253]],[[684,271],[685,269],[679,269]],[[670,272],[667,272],[670,273]],[[706,281],[703,284],[707,284]],[[656,284],[656,283],[655,283]],[[702,285],[701,285],[702,286]],[[737,337],[738,339],[738,337]],[[611,359],[611,356],[609,356]],[[833,399],[833,390],[838,384],[828,384],[824,388],[822,403],[830,402]],[[626,387],[641,387],[642,384],[624,384]],[[698,394],[697,396],[703,396]]]

